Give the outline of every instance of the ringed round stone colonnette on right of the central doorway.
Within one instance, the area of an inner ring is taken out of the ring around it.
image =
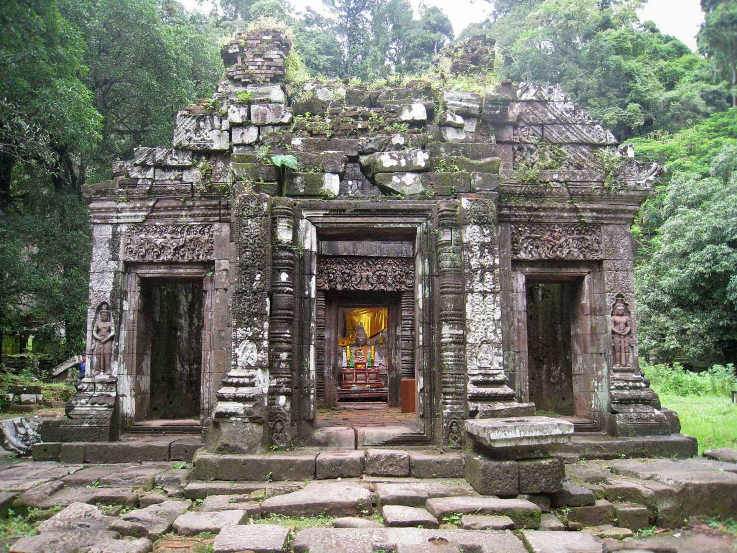
[[[440,374],[442,443],[464,445],[467,418],[466,352],[464,350],[463,263],[458,202],[446,201],[438,210],[438,266],[440,307]]]

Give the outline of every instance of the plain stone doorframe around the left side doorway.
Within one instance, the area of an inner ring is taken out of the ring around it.
[[[123,428],[142,420],[150,400],[150,331],[146,327],[142,281],[145,279],[202,279],[203,331],[200,378],[200,420],[209,417],[214,406],[214,351],[212,311],[215,300],[214,262],[126,263],[122,274],[123,298],[119,341],[118,394]]]

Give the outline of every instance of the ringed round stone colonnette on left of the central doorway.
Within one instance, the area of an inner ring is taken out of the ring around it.
[[[270,445],[288,448],[292,442],[292,375],[294,301],[293,201],[272,198],[273,267],[269,330]]]

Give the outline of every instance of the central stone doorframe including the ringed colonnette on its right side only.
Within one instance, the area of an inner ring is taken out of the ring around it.
[[[453,434],[467,418],[459,206],[458,201],[315,200],[296,204],[298,244],[303,251],[296,285],[301,294],[293,421],[300,433],[314,428],[317,406],[318,234],[363,235],[414,240],[414,369],[416,414],[422,428],[418,438],[449,445],[450,428],[450,446],[461,445]]]

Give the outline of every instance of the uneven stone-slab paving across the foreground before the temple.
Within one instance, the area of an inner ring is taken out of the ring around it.
[[[1,460],[0,552],[737,552],[737,523],[713,518],[737,518],[730,462],[578,462],[562,492],[503,498],[458,478],[188,481],[189,468]]]

